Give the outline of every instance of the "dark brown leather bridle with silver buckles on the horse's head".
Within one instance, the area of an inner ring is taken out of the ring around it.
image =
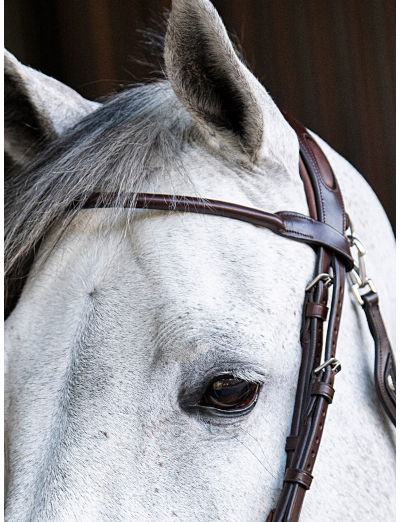
[[[300,176],[310,217],[295,212],[263,212],[254,208],[186,196],[162,194],[94,193],[82,195],[71,208],[146,208],[196,212],[246,221],[275,234],[310,245],[317,254],[315,278],[305,291],[300,332],[302,357],[290,435],[286,442],[286,472],[278,504],[267,522],[297,522],[305,493],[310,489],[326,413],[334,396],[335,374],[340,371],[336,344],[349,275],[356,298],[365,311],[375,341],[375,387],[390,420],[396,416],[396,367],[392,348],[379,311],[378,294],[367,277],[365,250],[354,236],[337,180],[321,148],[296,120],[284,114],[300,144]],[[346,235],[346,231],[350,233]],[[358,252],[358,262],[351,253]],[[331,289],[331,290],[330,290]],[[364,294],[360,290],[368,289]],[[330,312],[328,309],[330,297]],[[329,313],[328,313],[329,312]],[[327,321],[325,342],[323,323]],[[323,353],[324,347],[324,353]]]

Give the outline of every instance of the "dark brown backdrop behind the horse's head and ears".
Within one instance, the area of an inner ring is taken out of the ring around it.
[[[395,222],[395,0],[214,0],[279,107],[371,184]],[[151,77],[137,29],[170,0],[5,0],[19,60],[96,99]],[[357,195],[355,195],[357,197]]]

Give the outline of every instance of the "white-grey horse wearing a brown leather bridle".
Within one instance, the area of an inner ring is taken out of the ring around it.
[[[218,216],[66,211],[82,192],[129,190],[307,213],[296,135],[217,12],[172,5],[168,81],[103,105],[6,56],[11,302],[29,269],[6,322],[7,522],[265,522],[279,496],[313,250]],[[315,139],[394,343],[391,227],[361,175]],[[301,520],[389,522],[394,430],[348,289],[337,356]],[[210,383],[228,378],[259,389],[241,417],[208,411]]]

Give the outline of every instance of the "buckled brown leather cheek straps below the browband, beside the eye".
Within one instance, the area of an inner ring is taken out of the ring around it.
[[[331,312],[325,340],[324,359],[335,356],[337,331],[343,302],[344,267],[337,259],[332,260],[333,273],[338,284],[333,287]],[[326,289],[314,289],[309,299],[326,298]],[[287,469],[303,470],[311,475],[321,444],[328,405],[333,399],[334,373],[330,366],[315,375],[314,369],[320,362],[322,348],[322,320],[305,318],[302,329],[302,363],[299,372],[296,403],[292,421],[290,442],[288,441]],[[295,444],[297,442],[297,444]],[[295,449],[293,450],[293,446]],[[284,482],[273,522],[298,521],[307,487],[299,482]]]

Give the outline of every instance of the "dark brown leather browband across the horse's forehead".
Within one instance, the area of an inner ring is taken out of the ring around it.
[[[324,246],[343,260],[348,271],[354,267],[349,242],[343,234],[326,223],[297,214],[296,212],[283,211],[272,214],[234,203],[188,196],[104,192],[91,194],[83,206],[81,206],[81,201],[78,199],[74,206],[84,209],[119,206],[149,210],[193,212],[237,219],[269,228],[275,234],[288,239],[294,239],[313,246]]]

